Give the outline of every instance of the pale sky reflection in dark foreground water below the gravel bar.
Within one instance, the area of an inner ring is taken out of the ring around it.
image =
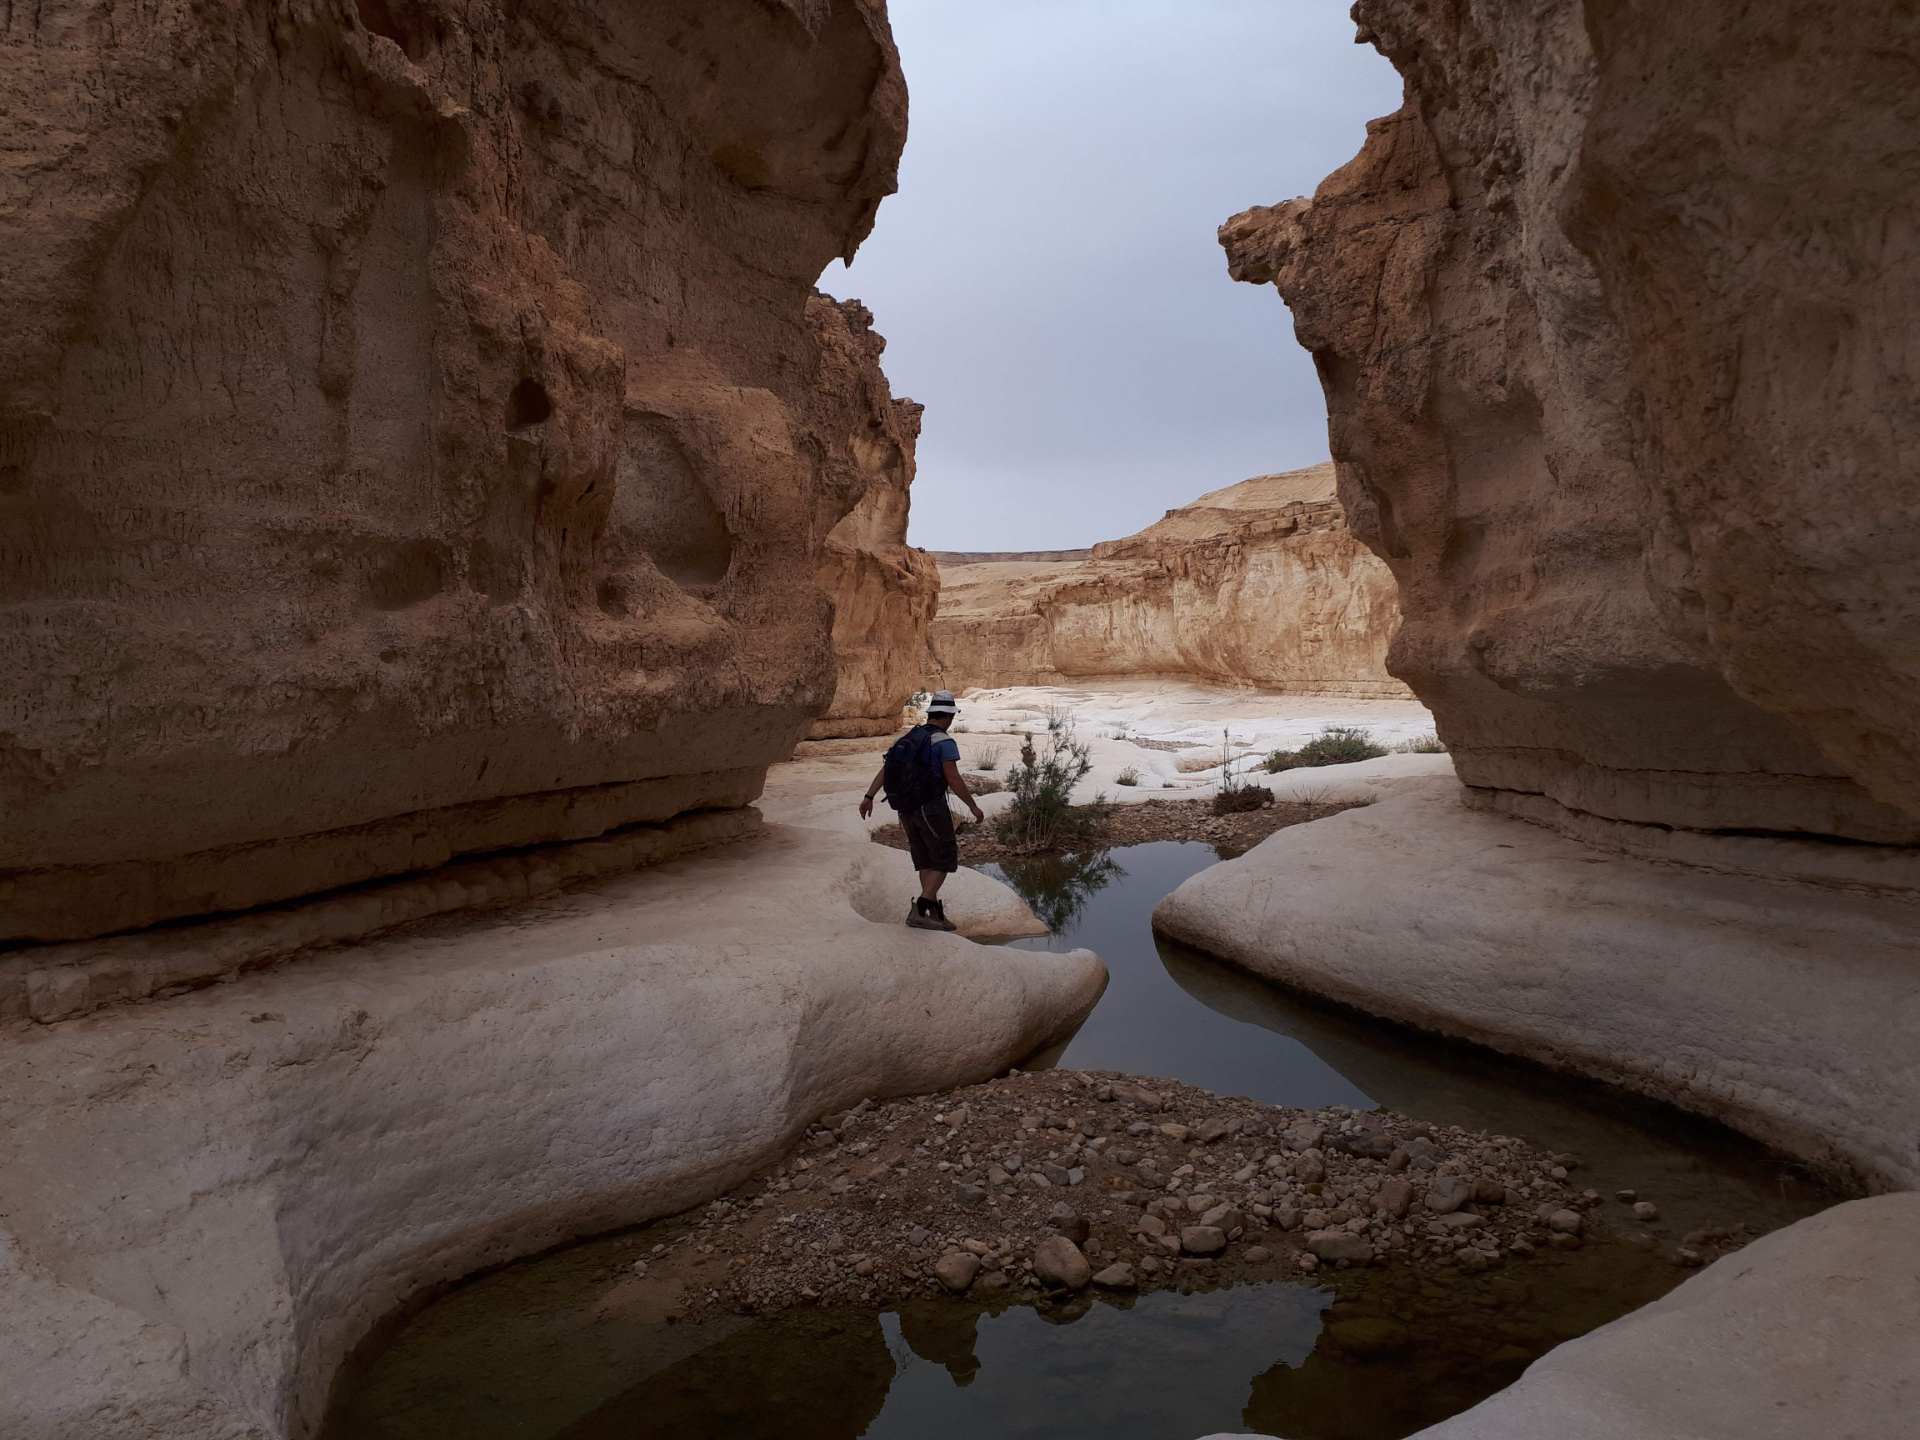
[[[1238,1430],[1248,1382],[1271,1365],[1298,1367],[1332,1300],[1306,1284],[1248,1284],[1212,1294],[1146,1294],[1131,1309],[1094,1306],[1071,1325],[1033,1309],[981,1315],[979,1375],[945,1352],[922,1359],[900,1315],[881,1315],[897,1365],[887,1405],[866,1440],[931,1434],[993,1440],[1110,1440]],[[989,1384],[995,1379],[998,1384]]]

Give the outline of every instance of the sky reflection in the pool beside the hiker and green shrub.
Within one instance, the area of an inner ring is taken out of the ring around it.
[[[1094,852],[1096,856],[1100,852]],[[1173,1075],[1219,1094],[1246,1094],[1269,1104],[1315,1110],[1346,1104],[1371,1108],[1373,1098],[1290,1035],[1275,1035],[1252,1018],[1215,1010],[1183,989],[1154,947],[1152,914],[1183,879],[1219,856],[1212,845],[1154,841],[1108,851],[1117,876],[1096,872],[1087,904],[1046,939],[1020,941],[1035,950],[1087,947],[1106,960],[1112,975],[1106,995],[1060,1058],[1083,1069],[1127,1069],[1140,1075]],[[1075,876],[1058,862],[1031,866],[981,866],[1014,889],[1044,887],[1037,908],[1064,910],[1060,891]],[[1260,981],[1242,979],[1250,991]]]

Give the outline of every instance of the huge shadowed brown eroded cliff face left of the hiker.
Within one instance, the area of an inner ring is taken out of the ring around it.
[[[123,10],[0,17],[0,941],[751,801],[879,0]]]

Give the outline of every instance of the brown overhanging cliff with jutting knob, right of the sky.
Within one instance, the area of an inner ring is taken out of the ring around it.
[[[1407,106],[1221,240],[1315,355],[1461,778],[1920,839],[1920,17],[1356,19]]]

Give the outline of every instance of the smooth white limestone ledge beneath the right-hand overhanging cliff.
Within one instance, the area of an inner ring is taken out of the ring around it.
[[[1920,1185],[1914,899],[1601,851],[1409,778],[1204,870],[1154,927],[1713,1116],[1866,1188]]]

